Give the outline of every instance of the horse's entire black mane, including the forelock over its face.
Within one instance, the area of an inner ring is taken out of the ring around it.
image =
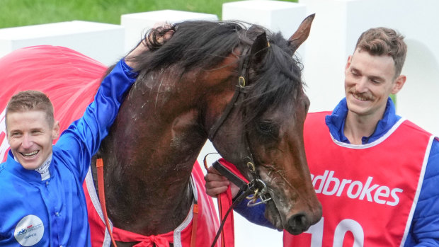
[[[169,30],[174,31],[171,39],[164,44],[156,40]],[[270,106],[294,102],[297,93],[302,91],[302,65],[293,57],[289,42],[280,33],[273,34],[259,25],[239,21],[185,21],[149,32],[152,35],[145,36],[150,38],[149,50],[154,52],[133,58],[139,64],[135,69],[141,71],[141,75],[172,64],[178,64],[181,73],[195,68],[215,69],[236,47],[251,45],[256,36],[265,32],[270,47],[261,66],[251,71],[246,105],[252,110],[246,115],[246,121],[259,117]]]

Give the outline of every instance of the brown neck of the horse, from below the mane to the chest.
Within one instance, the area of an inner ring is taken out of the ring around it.
[[[234,93],[234,54],[218,69],[140,76],[103,142],[108,214],[116,227],[163,234],[188,214],[190,173],[212,126]],[[123,140],[123,143],[120,142]],[[169,216],[172,217],[169,217]]]

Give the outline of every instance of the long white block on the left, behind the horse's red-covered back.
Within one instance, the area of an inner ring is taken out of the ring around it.
[[[125,55],[120,25],[67,21],[0,29],[0,57],[21,47],[59,45],[69,47],[110,65]]]

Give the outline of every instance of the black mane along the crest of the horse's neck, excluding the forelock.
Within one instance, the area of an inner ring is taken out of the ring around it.
[[[163,45],[156,41],[169,30],[173,36]],[[195,67],[207,69],[218,64],[237,47],[239,33],[244,25],[238,22],[186,21],[176,23],[171,28],[160,28],[159,32],[150,30],[149,50],[152,54],[139,56],[139,71],[152,71],[178,63],[183,70]],[[160,49],[157,49],[157,48]]]

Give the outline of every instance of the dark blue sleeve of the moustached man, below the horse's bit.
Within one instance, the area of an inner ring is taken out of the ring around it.
[[[242,200],[234,207],[234,211],[246,218],[249,222],[258,224],[260,226],[266,226],[271,229],[276,229],[265,217],[266,205],[256,205],[254,207],[247,207],[248,199]]]

